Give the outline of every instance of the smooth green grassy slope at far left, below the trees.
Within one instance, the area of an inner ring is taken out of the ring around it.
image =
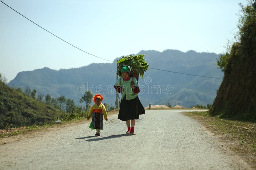
[[[58,115],[58,109],[46,105],[8,87],[0,81],[0,128],[44,124]],[[8,124],[6,124],[8,122]]]

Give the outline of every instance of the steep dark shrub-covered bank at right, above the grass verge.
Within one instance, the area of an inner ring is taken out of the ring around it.
[[[256,2],[242,6],[238,26],[239,41],[221,56],[224,79],[214,100],[211,114],[256,121]]]

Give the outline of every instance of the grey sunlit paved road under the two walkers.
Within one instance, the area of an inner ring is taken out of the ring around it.
[[[184,110],[146,110],[135,135],[109,116],[100,137],[89,123],[0,145],[0,169],[240,169]],[[243,169],[243,167],[241,168]]]

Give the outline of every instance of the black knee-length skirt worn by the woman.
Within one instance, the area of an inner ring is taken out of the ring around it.
[[[131,100],[121,100],[118,119],[127,121],[130,119],[139,119],[139,115],[145,114],[144,107],[140,103],[139,97]]]

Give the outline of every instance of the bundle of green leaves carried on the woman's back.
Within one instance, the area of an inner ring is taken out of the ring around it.
[[[148,70],[148,63],[145,62],[144,59],[145,55],[129,55],[129,56],[122,56],[120,60],[117,61],[117,75],[121,77],[121,70],[119,69],[120,66],[131,66],[135,74],[140,74],[141,78],[143,78],[143,74],[146,70]],[[136,77],[136,75],[134,76]],[[138,77],[136,77],[138,79]]]

